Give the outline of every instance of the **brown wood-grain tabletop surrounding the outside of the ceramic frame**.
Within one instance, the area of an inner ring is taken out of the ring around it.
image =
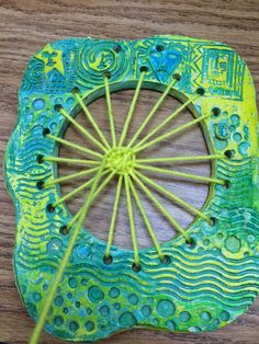
[[[180,2],[166,0],[0,0],[1,159],[16,122],[19,83],[29,58],[36,50],[48,42],[69,36],[130,39],[157,34],[195,36],[228,44],[245,58],[252,73],[256,89],[259,89],[258,0]],[[119,107],[123,107],[123,102],[130,99],[128,92],[114,98]],[[151,96],[144,93],[140,101],[143,111],[148,107],[149,100],[151,101]],[[101,113],[102,105],[95,106],[97,112]],[[170,103],[167,106],[169,108]],[[193,133],[189,137],[189,145],[192,141],[195,142],[196,151],[202,152],[205,149],[204,142],[196,140]],[[206,173],[207,165],[204,165],[203,170]],[[188,187],[190,196],[191,186]],[[184,194],[184,186],[182,193]],[[201,197],[205,197],[204,193],[206,194],[206,190],[199,191]],[[0,199],[0,343],[27,343],[34,324],[24,311],[14,284],[12,270],[14,210],[4,190],[2,174]],[[204,199],[192,200],[201,206]],[[77,204],[71,205],[72,207],[77,207]],[[128,245],[128,237],[125,234],[123,238],[119,244]],[[166,238],[161,236],[161,239]],[[148,244],[145,240],[142,238],[142,245]],[[41,343],[61,342],[44,333]],[[176,334],[134,330],[115,334],[102,343],[259,343],[259,299],[246,314],[216,332]]]

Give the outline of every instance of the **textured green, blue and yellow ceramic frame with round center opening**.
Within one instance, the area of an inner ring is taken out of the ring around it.
[[[244,60],[224,44],[181,36],[70,38],[47,44],[30,60],[5,151],[5,182],[16,211],[15,276],[30,316],[37,321],[69,240],[59,229],[72,217],[66,204],[47,211],[61,197],[58,185],[37,187],[57,175],[55,163],[37,161],[58,154],[43,130],[63,136],[66,121],[54,106],[76,115],[75,87],[89,103],[104,94],[104,72],[117,91],[136,87],[142,66],[148,67],[145,88],[162,91],[180,73],[172,95],[185,100],[205,89],[191,110],[198,117],[211,114],[202,124],[211,153],[234,153],[213,165],[213,176],[230,187],[212,184],[203,213],[216,221],[193,221],[188,233],[194,244],[187,245],[180,234],[162,243],[168,264],[155,248],[142,250],[138,273],[132,270],[133,252],[112,246],[113,262],[106,265],[106,244],[91,228],[81,230],[45,324],[64,340],[97,341],[135,326],[211,331],[244,313],[259,293],[258,118]]]

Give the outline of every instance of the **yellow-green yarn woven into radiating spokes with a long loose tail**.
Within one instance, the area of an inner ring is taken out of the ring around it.
[[[155,158],[155,159],[138,159],[136,154],[146,149],[151,147],[153,145],[179,133],[182,131],[194,124],[198,124],[204,119],[206,119],[210,115],[204,114],[173,130],[170,130],[164,135],[158,136],[157,138],[148,141],[148,139],[154,136],[158,130],[164,128],[172,118],[174,118],[178,114],[181,113],[191,102],[193,102],[199,94],[194,95],[193,98],[189,99],[185,103],[183,103],[177,111],[174,111],[172,114],[170,114],[166,119],[164,119],[160,124],[156,126],[149,134],[144,137],[137,145],[133,146],[140,133],[144,130],[146,125],[149,123],[151,117],[155,115],[161,103],[164,102],[165,98],[167,94],[171,91],[172,87],[177,82],[176,79],[172,79],[172,81],[169,83],[169,85],[166,88],[161,96],[158,99],[157,103],[153,106],[151,111],[143,122],[143,124],[139,126],[131,141],[126,145],[123,146],[126,135],[128,131],[128,127],[131,124],[132,116],[134,114],[134,110],[136,107],[136,103],[139,96],[139,92],[142,89],[142,84],[145,79],[145,73],[146,71],[143,71],[140,73],[140,78],[138,80],[136,91],[133,96],[132,104],[128,110],[128,114],[126,116],[122,135],[119,139],[116,138],[116,133],[115,133],[115,125],[114,125],[114,116],[113,116],[113,111],[112,111],[112,104],[111,104],[111,94],[110,94],[110,83],[109,83],[109,76],[104,76],[104,89],[105,89],[105,96],[106,96],[106,105],[108,105],[108,116],[109,116],[109,122],[110,122],[110,130],[111,130],[111,139],[112,139],[112,145],[110,145],[104,137],[103,133],[101,131],[100,127],[98,126],[97,122],[94,121],[93,116],[91,115],[90,111],[83,103],[82,98],[78,92],[75,92],[75,98],[78,102],[78,104],[82,107],[82,110],[86,113],[86,116],[88,117],[89,122],[92,124],[95,133],[98,134],[99,138],[101,139],[101,142],[93,136],[91,135],[87,129],[85,129],[74,117],[71,117],[64,108],[58,108],[60,114],[68,119],[80,133],[82,133],[93,145],[95,145],[101,151],[97,152],[94,150],[88,149],[86,147],[82,147],[80,145],[74,144],[71,141],[61,139],[59,137],[56,137],[52,134],[47,134],[46,137],[60,144],[65,145],[74,150],[82,151],[87,154],[90,154],[94,157],[95,160],[85,160],[85,159],[69,159],[69,158],[57,158],[57,157],[43,157],[43,161],[48,161],[48,162],[60,162],[60,163],[71,163],[71,164],[79,164],[79,165],[90,165],[92,167],[91,169],[83,170],[78,173],[72,173],[63,177],[57,177],[55,180],[48,181],[44,183],[44,187],[50,187],[54,184],[57,183],[63,183],[68,180],[74,180],[76,177],[82,176],[82,175],[88,175],[91,173],[97,173],[95,176],[93,176],[91,180],[88,182],[83,183],[76,190],[71,191],[67,195],[63,196],[58,200],[56,200],[53,206],[56,207],[59,204],[64,203],[65,200],[74,197],[77,193],[80,191],[90,187],[89,195],[87,195],[85,203],[82,207],[79,209],[79,211],[74,216],[74,218],[70,220],[69,223],[67,223],[68,229],[72,229],[71,231],[71,237],[69,239],[69,243],[67,246],[67,250],[65,252],[64,257],[60,261],[60,264],[58,266],[57,273],[54,277],[53,284],[50,286],[50,289],[48,291],[48,297],[46,298],[46,301],[44,303],[43,310],[41,312],[38,322],[35,326],[35,330],[31,336],[30,344],[36,344],[41,331],[44,326],[47,313],[49,311],[49,308],[52,306],[52,302],[54,300],[56,289],[58,287],[58,284],[61,280],[64,271],[69,263],[70,254],[72,252],[72,248],[77,241],[78,234],[81,230],[81,227],[83,225],[85,218],[88,214],[89,207],[92,205],[93,200],[97,198],[97,196],[101,193],[101,191],[105,187],[105,185],[114,177],[116,176],[119,179],[117,182],[117,187],[116,187],[116,195],[114,199],[114,206],[113,206],[113,211],[112,211],[112,217],[111,217],[111,223],[110,223],[110,229],[109,229],[109,236],[108,236],[108,244],[106,244],[106,250],[105,250],[105,257],[110,256],[111,253],[111,246],[113,243],[113,238],[114,238],[114,230],[115,230],[115,225],[116,225],[116,219],[117,219],[117,211],[119,211],[119,203],[120,203],[120,197],[122,193],[122,187],[123,184],[125,186],[126,191],[126,202],[127,202],[127,209],[128,209],[128,219],[130,219],[130,225],[131,225],[131,234],[132,234],[132,242],[133,242],[133,251],[134,251],[134,263],[136,266],[140,266],[140,260],[139,260],[139,250],[138,250],[138,242],[137,242],[137,233],[136,233],[136,225],[135,225],[135,218],[134,218],[134,211],[133,211],[133,199],[136,203],[136,206],[138,207],[142,217],[144,219],[144,222],[146,225],[146,228],[148,230],[148,233],[154,242],[154,245],[157,250],[158,256],[160,260],[164,259],[164,253],[160,248],[160,244],[156,238],[155,231],[150,225],[150,221],[146,215],[145,208],[142,204],[140,197],[137,193],[137,190],[134,185],[133,182],[135,182],[136,185],[147,195],[147,197],[156,205],[156,207],[162,213],[162,215],[169,220],[169,222],[185,238],[188,242],[190,242],[190,237],[189,234],[184,231],[184,229],[178,223],[178,221],[168,213],[168,210],[160,204],[160,202],[154,196],[151,191],[149,190],[148,186],[151,186],[153,188],[156,188],[158,192],[164,194],[166,197],[169,197],[172,199],[174,203],[180,204],[181,206],[184,206],[187,209],[189,209],[191,213],[200,216],[201,218],[205,219],[206,221],[210,221],[210,219],[204,215],[202,211],[193,207],[192,205],[188,204],[187,202],[182,200],[181,198],[177,197],[174,194],[168,192],[165,187],[160,186],[149,177],[147,177],[145,174],[142,173],[142,170],[146,171],[154,171],[158,173],[167,173],[170,175],[177,175],[181,177],[188,177],[192,179],[195,181],[203,181],[203,182],[210,182],[210,183],[218,183],[223,185],[225,182],[215,179],[215,177],[204,177],[204,176],[199,176],[195,174],[191,173],[182,173],[182,172],[177,172],[173,170],[167,170],[167,169],[160,169],[160,168],[155,168],[149,165],[148,163],[154,163],[154,162],[166,162],[166,161],[195,161],[195,160],[213,160],[213,159],[223,159],[224,157],[221,154],[212,154],[212,156],[193,156],[193,157],[172,157],[172,158]],[[105,176],[104,181],[101,182],[101,179]],[[101,182],[101,183],[100,183]],[[99,185],[100,184],[100,185]],[[99,185],[99,186],[98,186]],[[75,226],[75,228],[74,228]]]

